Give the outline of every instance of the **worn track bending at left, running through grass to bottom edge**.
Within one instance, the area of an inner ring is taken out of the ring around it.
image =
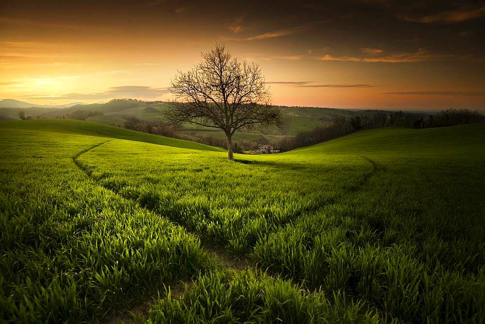
[[[84,150],[82,150],[82,151],[80,151],[77,154],[72,156],[73,163],[82,172],[84,172],[88,178],[92,179],[96,183],[97,183],[97,181],[95,179],[93,179],[93,177],[92,177],[92,172],[88,168],[86,168],[81,162],[79,162],[78,158],[82,154],[87,153],[87,152],[89,152],[89,151],[91,151],[91,150],[93,150],[93,149],[95,149],[95,148],[97,148],[97,147],[99,147],[99,146],[101,146],[105,143],[108,143],[112,140],[113,139],[109,139],[109,140],[106,140],[104,142],[95,144],[95,145],[90,146],[90,147],[88,147],[88,148],[86,148],[86,149],[84,149]],[[117,192],[115,192],[115,191],[113,191],[109,188],[106,188],[104,186],[102,186],[102,187],[106,190],[113,192],[113,194],[115,194],[117,197],[119,197],[121,199],[127,199],[126,197],[121,196],[120,194],[118,194]],[[158,215],[158,213],[140,205],[137,201],[134,201],[134,200],[131,200],[131,201],[133,201],[138,208]],[[158,215],[158,216],[160,216],[160,215]],[[162,217],[162,216],[160,216],[160,217]],[[166,218],[166,217],[164,217],[164,218]],[[188,231],[187,228],[184,227],[183,225],[178,224],[178,223],[174,223],[173,221],[169,220],[168,218],[167,218],[167,220],[173,226],[181,227],[181,228],[184,229],[184,231],[194,235],[195,237],[198,237],[198,235],[196,233],[194,233],[192,231]],[[200,238],[199,238],[199,240],[200,240]],[[210,245],[210,246],[209,245],[203,245],[202,241],[201,241],[201,249],[206,250],[209,253],[210,257],[215,259],[217,264],[223,269],[229,269],[229,270],[231,270],[235,273],[240,273],[242,270],[245,270],[245,269],[248,269],[248,268],[256,268],[256,264],[254,262],[251,262],[248,258],[234,257],[234,256],[231,255],[231,253],[226,248],[216,246],[216,245]],[[188,281],[179,280],[175,283],[166,284],[165,287],[166,287],[167,291],[170,291],[171,297],[174,298],[174,299],[177,299],[177,298],[179,298],[180,296],[183,295],[186,288],[190,289],[190,287],[192,286],[192,283],[193,283],[193,280],[188,280]],[[104,319],[101,319],[101,322],[103,322],[103,323],[131,323],[132,322],[132,315],[148,315],[149,309],[150,309],[151,305],[153,304],[153,302],[156,301],[157,298],[160,299],[160,298],[165,298],[165,297],[166,296],[160,295],[160,292],[158,294],[158,297],[155,297],[154,293],[147,294],[142,303],[135,305],[130,310],[120,310],[120,311],[114,312],[114,314],[112,314],[111,316],[108,316],[108,317],[105,317]]]

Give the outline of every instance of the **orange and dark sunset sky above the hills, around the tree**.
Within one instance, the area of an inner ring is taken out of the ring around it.
[[[484,1],[0,0],[0,99],[168,100],[214,44],[286,106],[485,110]]]

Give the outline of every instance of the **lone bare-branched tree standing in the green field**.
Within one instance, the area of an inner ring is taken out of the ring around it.
[[[271,105],[259,66],[238,62],[216,45],[202,53],[202,62],[188,72],[178,71],[170,91],[175,95],[166,112],[174,124],[193,123],[220,128],[227,137],[227,154],[232,156],[232,135],[240,128],[257,125],[281,126],[280,111]]]

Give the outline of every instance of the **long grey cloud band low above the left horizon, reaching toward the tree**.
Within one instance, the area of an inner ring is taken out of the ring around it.
[[[162,94],[169,93],[168,88],[152,88],[146,86],[121,86],[111,87],[101,93],[62,93],[58,95],[25,95],[29,100],[93,100],[109,98],[158,98]]]

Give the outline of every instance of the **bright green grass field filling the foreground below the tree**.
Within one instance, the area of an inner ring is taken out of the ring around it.
[[[483,123],[233,162],[87,122],[0,137],[7,322],[485,320]]]

